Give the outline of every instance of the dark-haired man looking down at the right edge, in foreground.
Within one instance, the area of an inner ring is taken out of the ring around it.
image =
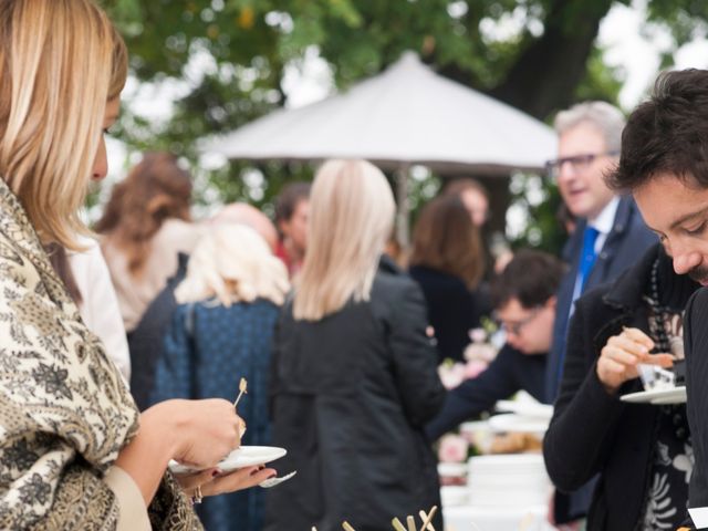
[[[611,185],[632,192],[675,272],[708,285],[708,71],[662,74],[652,97],[629,116],[622,140]],[[685,314],[695,458],[689,507],[698,529],[708,527],[707,317],[708,298],[699,290]]]

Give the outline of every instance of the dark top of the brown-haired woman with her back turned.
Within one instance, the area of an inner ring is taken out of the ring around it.
[[[461,361],[469,331],[479,327],[480,317],[492,310],[486,284],[470,291],[462,279],[424,266],[412,267],[409,273],[423,289],[439,361]]]

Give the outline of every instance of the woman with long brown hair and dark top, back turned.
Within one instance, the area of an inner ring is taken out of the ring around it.
[[[469,332],[491,313],[479,228],[458,196],[440,196],[420,212],[409,273],[425,295],[438,360],[461,361]]]

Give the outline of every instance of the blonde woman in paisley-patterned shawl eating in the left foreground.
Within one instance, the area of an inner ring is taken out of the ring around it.
[[[139,415],[44,252],[87,232],[79,208],[106,174],[126,71],[91,0],[0,2],[0,529],[201,529],[167,462],[212,467],[239,445],[227,400]]]

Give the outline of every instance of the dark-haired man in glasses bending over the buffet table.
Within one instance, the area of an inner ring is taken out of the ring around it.
[[[561,261],[551,254],[522,250],[494,279],[492,302],[497,320],[507,332],[507,343],[485,372],[448,393],[442,410],[426,427],[430,440],[518,391],[543,399],[554,294],[563,272]]]

